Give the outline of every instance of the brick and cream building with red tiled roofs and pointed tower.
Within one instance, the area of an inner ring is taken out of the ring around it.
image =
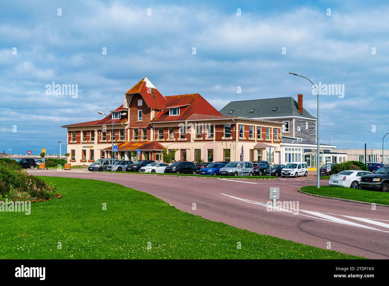
[[[198,93],[165,97],[144,77],[125,93],[123,105],[106,117],[62,127],[68,130],[70,162],[88,165],[112,158],[112,140],[118,148],[113,156],[120,160],[163,161],[166,148],[176,150],[175,161],[254,161],[274,156],[278,162],[283,125],[223,116]],[[134,155],[137,150],[140,154]]]

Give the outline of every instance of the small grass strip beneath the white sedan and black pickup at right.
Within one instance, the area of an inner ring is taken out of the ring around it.
[[[301,187],[300,191],[325,197],[345,198],[347,200],[355,200],[359,202],[389,205],[389,193],[380,191],[331,186],[320,186],[320,189],[317,189],[316,186],[305,186]]]

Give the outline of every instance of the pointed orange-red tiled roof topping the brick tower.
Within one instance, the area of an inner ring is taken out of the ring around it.
[[[147,87],[145,79],[146,77],[135,84],[135,86],[126,92],[126,95],[140,93],[148,107],[152,109],[163,110],[166,105],[166,98],[161,95],[158,89]]]

